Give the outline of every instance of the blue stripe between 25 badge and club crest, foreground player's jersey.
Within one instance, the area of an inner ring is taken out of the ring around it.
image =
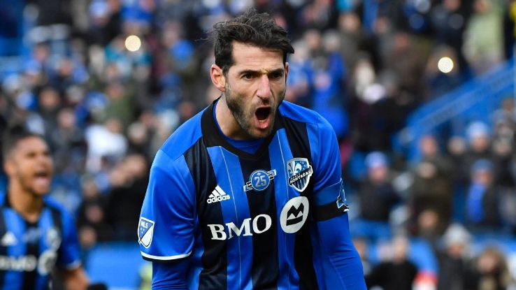
[[[286,170],[287,161],[292,159],[287,134],[285,129],[280,129],[268,146],[268,154],[271,159],[271,168],[276,170],[274,180],[274,191],[276,198],[276,217],[278,223],[278,261],[280,263],[280,277],[278,279],[278,289],[298,289],[299,276],[294,268],[294,247],[296,235],[285,233],[281,229],[281,210],[283,205],[290,198],[299,196],[297,191],[288,185],[288,174]],[[280,182],[282,181],[282,182]],[[281,194],[285,193],[285,194]]]

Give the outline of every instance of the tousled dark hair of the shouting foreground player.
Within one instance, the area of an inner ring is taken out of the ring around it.
[[[210,38],[213,40],[215,64],[222,68],[224,74],[234,64],[233,41],[280,50],[283,52],[284,64],[287,61],[287,54],[294,53],[287,31],[276,24],[271,15],[257,13],[255,8],[249,8],[232,20],[217,22],[213,25],[213,29]]]

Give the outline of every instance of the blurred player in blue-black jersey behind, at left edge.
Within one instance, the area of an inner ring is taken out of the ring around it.
[[[47,143],[13,126],[2,154],[8,187],[0,193],[0,288],[49,289],[57,266],[66,289],[86,289],[73,219],[45,197],[53,173]]]

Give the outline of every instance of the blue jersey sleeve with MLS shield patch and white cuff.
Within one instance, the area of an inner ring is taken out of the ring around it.
[[[160,150],[138,222],[143,259],[173,261],[185,258],[194,244],[194,183],[184,157],[171,159]]]

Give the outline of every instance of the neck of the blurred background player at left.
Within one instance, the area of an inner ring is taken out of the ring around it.
[[[20,184],[10,182],[8,195],[10,207],[29,222],[36,222],[43,209],[43,196],[22,189]]]

